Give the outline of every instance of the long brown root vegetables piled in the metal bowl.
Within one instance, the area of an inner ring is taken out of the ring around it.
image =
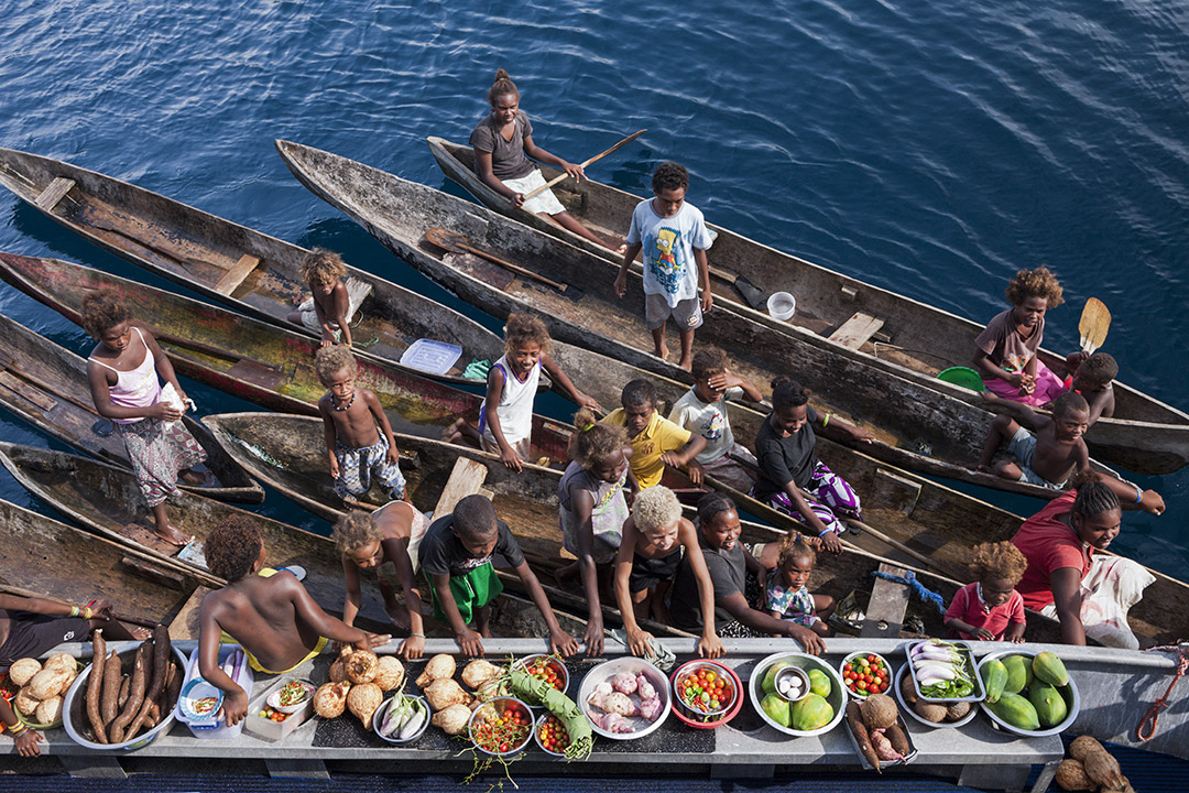
[[[107,654],[102,630],[95,631],[93,648],[84,709],[94,742],[125,743],[161,724],[174,710],[183,678],[169,630],[157,625],[152,638],[140,642],[130,674],[115,650]]]

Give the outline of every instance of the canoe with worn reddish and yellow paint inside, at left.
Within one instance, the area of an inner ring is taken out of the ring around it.
[[[317,415],[326,388],[314,371],[319,342],[310,336],[58,259],[0,253],[0,278],[76,323],[89,290],[112,289],[153,329],[180,373],[266,408]],[[376,394],[395,432],[436,436],[455,417],[479,415],[474,394],[390,361],[358,363],[357,383]],[[567,459],[567,438],[555,422],[534,417],[536,459]]]

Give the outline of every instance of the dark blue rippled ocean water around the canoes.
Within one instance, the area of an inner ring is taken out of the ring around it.
[[[548,150],[580,161],[648,127],[592,175],[643,193],[659,159],[678,159],[715,222],[823,265],[983,321],[1017,269],[1052,268],[1069,304],[1050,313],[1046,344],[1071,350],[1097,296],[1122,379],[1185,408],[1187,33],[1183,5],[1119,0],[8,0],[0,145],[338,248],[441,297],[302,188],[272,140],[443,187],[424,137],[465,139],[504,67]],[[163,285],[6,193],[0,250]],[[90,347],[8,288],[0,310]],[[188,390],[201,413],[251,409]],[[7,414],[0,434],[49,442]],[[1183,577],[1189,473],[1143,482],[1169,511],[1128,515],[1116,547]],[[33,503],[7,476],[0,497]],[[263,509],[319,525],[276,493]]]

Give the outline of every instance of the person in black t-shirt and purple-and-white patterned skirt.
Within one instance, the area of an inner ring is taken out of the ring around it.
[[[797,380],[779,377],[772,389],[772,413],[755,436],[760,477],[750,496],[807,524],[830,553],[842,553],[838,535],[847,527],[838,516],[862,520],[862,506],[850,484],[818,460],[813,428],[833,427],[851,442],[870,443],[872,434],[829,413],[819,415]]]

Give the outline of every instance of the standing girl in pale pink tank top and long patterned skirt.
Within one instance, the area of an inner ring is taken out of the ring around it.
[[[82,325],[99,339],[87,359],[95,411],[111,418],[124,439],[157,536],[184,546],[194,537],[169,523],[165,499],[177,493],[178,474],[189,484],[203,482],[190,467],[202,462],[207,453],[181,423],[188,399],[174,366],[114,292],[88,295],[82,302]],[[158,376],[166,383],[164,389]]]

